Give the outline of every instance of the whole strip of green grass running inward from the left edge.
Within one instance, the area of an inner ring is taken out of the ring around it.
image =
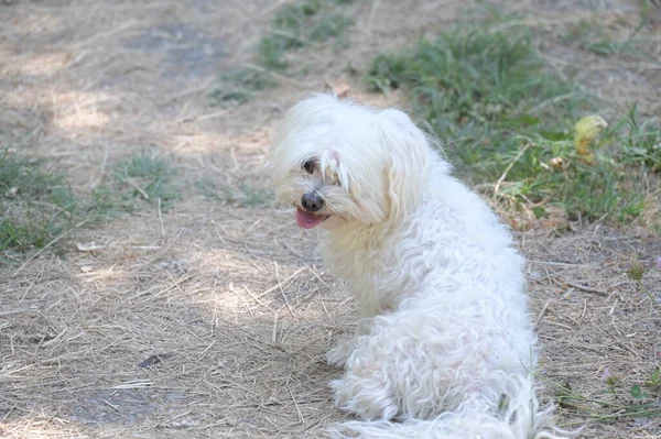
[[[72,228],[136,210],[137,201],[178,197],[170,165],[141,152],[117,164],[115,177],[76,195],[63,175],[15,149],[0,151],[0,263],[20,261]]]

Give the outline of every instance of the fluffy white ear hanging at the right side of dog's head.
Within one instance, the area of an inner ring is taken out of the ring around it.
[[[421,198],[433,161],[425,134],[407,114],[384,110],[377,114],[386,154],[389,219],[405,216]]]

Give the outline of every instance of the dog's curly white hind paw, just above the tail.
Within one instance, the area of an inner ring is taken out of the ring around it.
[[[335,405],[365,419],[392,419],[399,408],[389,394],[388,386],[377,380],[357,380],[349,375],[330,382],[335,391]]]

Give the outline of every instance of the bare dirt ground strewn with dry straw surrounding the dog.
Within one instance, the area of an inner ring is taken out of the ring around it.
[[[289,208],[223,204],[195,185],[267,188],[271,128],[311,91],[348,81],[354,98],[405,107],[398,94],[368,95],[349,67],[486,9],[357,1],[347,7],[356,23],[347,47],[305,51],[295,58],[304,77],[281,77],[237,108],[210,107],[218,74],[253,63],[283,3],[0,3],[0,142],[30,145],[79,193],[152,149],[176,167],[181,191],[170,209],[79,227],[58,243],[65,257],[45,251],[0,266],[0,437],[312,438],[347,418],[332,405],[326,383],[339,371],[324,354],[351,331],[355,306],[315,256],[315,233],[302,232]],[[550,64],[561,73],[587,66],[578,79],[613,108],[638,99],[644,114],[661,109],[650,94],[661,90],[658,65],[592,59],[559,35],[595,17],[630,30],[639,3],[494,3],[537,11]],[[544,344],[541,373],[585,395],[605,391],[605,370],[643,382],[661,361],[661,320],[625,273],[633,257],[651,268],[661,242],[644,230],[570,226],[518,232]],[[93,242],[94,251],[76,246]],[[646,274],[651,290],[660,282],[661,271]],[[661,427],[659,418],[604,419],[583,436],[655,438]]]

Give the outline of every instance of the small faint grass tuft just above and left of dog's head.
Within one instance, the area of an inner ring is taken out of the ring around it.
[[[209,94],[212,106],[240,106],[254,97],[258,91],[275,87],[278,83],[268,72],[243,68],[226,72],[218,85]]]

